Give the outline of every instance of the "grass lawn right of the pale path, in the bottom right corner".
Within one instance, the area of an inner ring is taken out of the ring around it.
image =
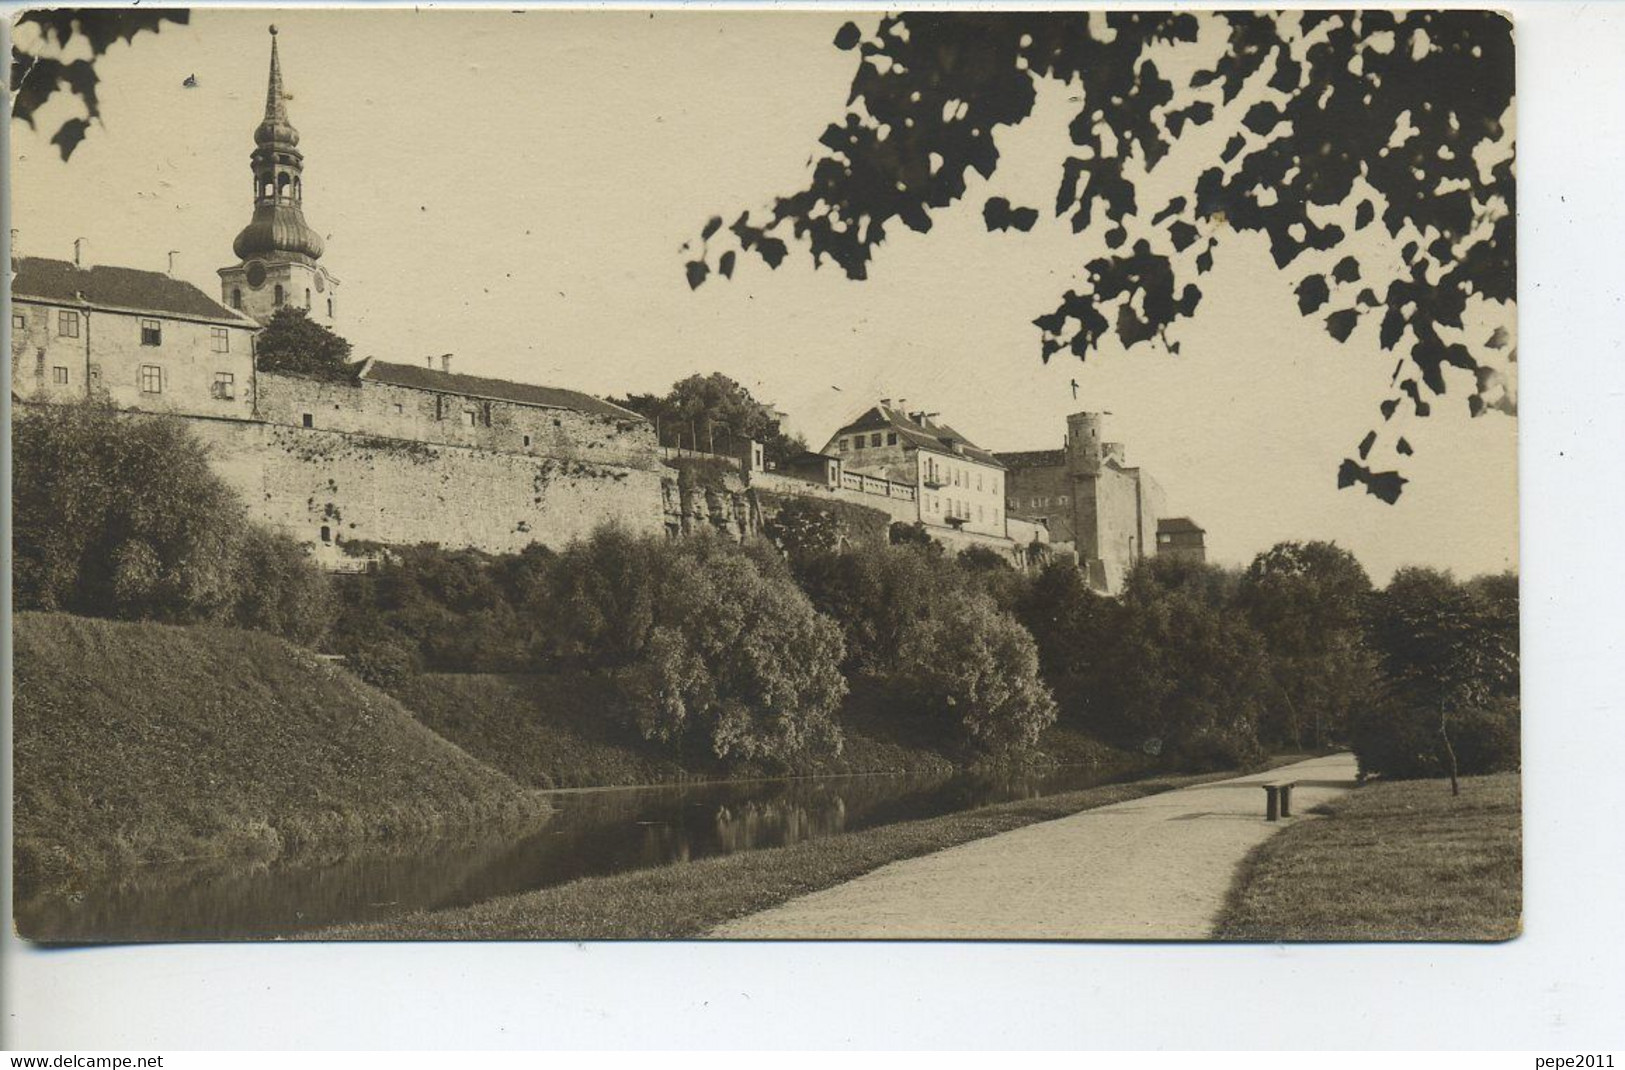
[[[1219,940],[1510,940],[1523,916],[1516,772],[1376,781],[1248,855]]]

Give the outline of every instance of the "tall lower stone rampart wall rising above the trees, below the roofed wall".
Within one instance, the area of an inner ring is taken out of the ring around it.
[[[661,530],[655,468],[413,442],[284,424],[185,418],[250,515],[341,566],[344,543],[491,553],[562,546],[613,520]]]

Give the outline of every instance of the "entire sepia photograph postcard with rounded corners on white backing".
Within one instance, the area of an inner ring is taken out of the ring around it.
[[[10,33],[23,940],[1521,933],[1510,16]]]

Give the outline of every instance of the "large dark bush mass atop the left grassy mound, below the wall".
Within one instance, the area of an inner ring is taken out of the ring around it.
[[[327,577],[249,524],[185,424],[98,403],[20,407],[11,424],[20,610],[327,629]]]

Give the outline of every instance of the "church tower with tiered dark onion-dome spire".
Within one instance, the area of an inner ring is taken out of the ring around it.
[[[254,130],[254,218],[231,249],[237,263],[219,270],[223,304],[268,322],[278,309],[306,309],[312,320],[333,325],[338,280],[317,263],[322,236],[304,218],[304,153],[288,120],[283,65],[271,26],[271,73],[265,119]]]

